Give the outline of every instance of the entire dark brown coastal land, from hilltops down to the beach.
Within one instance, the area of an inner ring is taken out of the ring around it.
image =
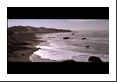
[[[70,30],[52,29],[52,28],[35,28],[30,26],[13,26],[8,28],[8,62],[31,62],[29,59],[33,52],[38,48],[35,46],[43,42],[38,40],[41,37],[36,37],[36,33],[51,33],[51,32],[71,32]],[[40,61],[49,61],[42,59]]]

